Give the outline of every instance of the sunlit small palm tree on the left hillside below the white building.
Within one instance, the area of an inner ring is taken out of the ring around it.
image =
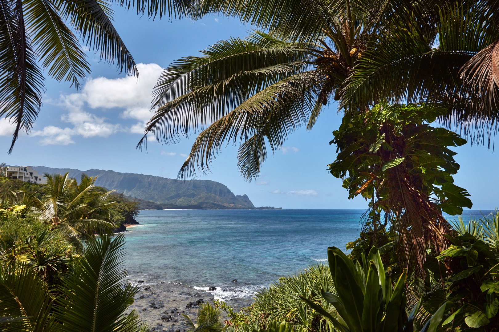
[[[45,195],[40,200],[26,192],[26,205],[38,212],[42,220],[60,228],[75,244],[78,245],[77,237],[114,226],[108,211],[114,202],[106,201],[111,191],[95,186],[97,177],[82,174],[78,184],[69,173],[44,176]]]

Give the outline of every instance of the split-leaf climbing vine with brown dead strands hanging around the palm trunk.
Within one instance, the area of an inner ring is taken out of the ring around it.
[[[450,224],[442,211],[456,215],[463,206],[472,207],[468,192],[454,184],[459,164],[448,148],[466,140],[429,125],[445,112],[427,105],[378,104],[345,115],[330,142],[339,151],[329,165],[331,174],[344,180],[348,198],[370,201],[365,229],[371,230],[372,244],[386,244],[377,236],[390,227],[400,259],[419,274],[424,274],[427,249],[438,254],[447,247],[443,234]]]

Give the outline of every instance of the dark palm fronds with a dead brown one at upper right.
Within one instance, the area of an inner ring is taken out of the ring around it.
[[[397,22],[367,47],[342,90],[347,112],[390,103],[431,103],[448,109],[439,119],[480,141],[499,116],[499,2],[449,1],[429,24]]]

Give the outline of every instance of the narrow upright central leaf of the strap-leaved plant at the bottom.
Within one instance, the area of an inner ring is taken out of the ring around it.
[[[384,273],[383,273],[384,276]],[[375,332],[378,322],[378,312],[380,310],[379,296],[381,287],[378,280],[376,266],[371,263],[367,273],[366,289],[364,292],[364,308],[362,310],[362,331]]]

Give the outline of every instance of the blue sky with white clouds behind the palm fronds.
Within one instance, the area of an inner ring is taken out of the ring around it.
[[[149,142],[147,151],[135,148],[151,113],[151,91],[163,68],[222,39],[245,37],[249,26],[236,19],[210,16],[200,21],[168,21],[139,17],[115,8],[115,27],[138,64],[140,79],[119,74],[116,68],[87,52],[92,73],[76,91],[68,83],[47,79],[43,107],[33,130],[23,134],[8,155],[11,127],[0,120],[0,162],[8,165],[47,166],[80,170],[105,169],[176,178],[194,137],[178,144]],[[336,148],[329,145],[341,123],[336,103],[327,105],[312,130],[298,128],[282,148],[268,155],[261,176],[246,182],[237,168],[237,146],[222,150],[212,173],[198,179],[218,181],[234,194],[247,194],[255,206],[285,209],[365,209],[360,197],[348,200],[342,181],[327,165]],[[497,207],[498,152],[487,146],[454,148],[461,170],[455,183],[466,188],[473,209]]]

